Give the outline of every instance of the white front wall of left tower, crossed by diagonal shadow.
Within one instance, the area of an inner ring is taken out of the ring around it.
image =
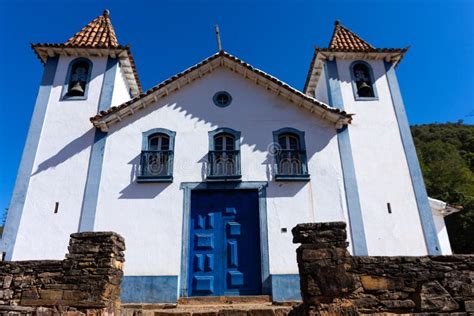
[[[58,62],[12,260],[62,259],[79,227],[94,137],[89,117],[97,113],[107,58],[91,58],[87,100],[60,101],[73,59]]]

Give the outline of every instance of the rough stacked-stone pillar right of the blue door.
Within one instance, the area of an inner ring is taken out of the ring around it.
[[[346,223],[299,224],[292,233],[293,243],[301,243],[296,251],[302,308],[305,309],[301,312],[307,315],[356,314],[350,301],[343,302],[356,287],[347,272],[351,268],[351,256],[347,251]]]

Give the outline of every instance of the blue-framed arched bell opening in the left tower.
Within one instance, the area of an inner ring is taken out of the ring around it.
[[[89,81],[92,71],[92,62],[86,58],[74,59],[69,64],[69,69],[64,84],[63,100],[85,100],[89,90]]]

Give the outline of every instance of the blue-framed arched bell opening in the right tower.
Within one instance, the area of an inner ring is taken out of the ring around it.
[[[372,67],[365,61],[355,61],[350,66],[352,89],[357,101],[377,100]]]

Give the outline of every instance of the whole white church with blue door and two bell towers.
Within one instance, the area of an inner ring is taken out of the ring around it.
[[[346,222],[360,256],[451,252],[397,83],[406,49],[336,22],[301,92],[225,51],[143,92],[108,11],[33,49],[44,75],[6,260],[61,259],[71,233],[115,231],[124,302],[287,301],[299,299],[298,223]]]

